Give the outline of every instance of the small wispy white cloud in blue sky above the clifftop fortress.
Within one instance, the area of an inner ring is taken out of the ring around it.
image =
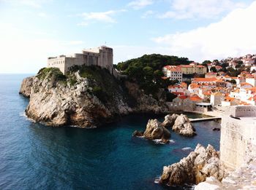
[[[78,25],[89,25],[89,23],[104,22],[104,23],[116,23],[114,16],[119,12],[125,12],[125,9],[121,10],[110,10],[106,12],[83,12],[81,16],[83,17],[83,22],[78,23]]]

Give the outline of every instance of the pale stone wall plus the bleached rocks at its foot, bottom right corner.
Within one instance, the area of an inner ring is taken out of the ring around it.
[[[222,116],[220,162],[226,176],[198,183],[195,190],[256,189],[256,106],[230,106]]]

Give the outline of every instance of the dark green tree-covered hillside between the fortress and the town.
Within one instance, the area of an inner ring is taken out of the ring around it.
[[[122,74],[126,74],[129,80],[138,83],[146,94],[151,94],[156,98],[159,88],[167,88],[168,85],[176,84],[177,82],[162,79],[162,76],[164,76],[162,67],[188,65],[189,63],[191,61],[188,58],[152,54],[118,63],[116,68]]]

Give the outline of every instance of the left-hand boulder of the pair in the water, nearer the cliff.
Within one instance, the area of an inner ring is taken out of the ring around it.
[[[145,138],[148,139],[163,139],[168,140],[170,138],[170,131],[163,127],[162,123],[157,119],[149,119],[144,132]]]

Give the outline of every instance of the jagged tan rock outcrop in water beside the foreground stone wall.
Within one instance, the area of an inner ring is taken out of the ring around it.
[[[219,160],[219,152],[208,145],[207,148],[197,144],[195,151],[173,165],[163,168],[160,183],[167,186],[197,184],[213,176],[219,181],[224,177],[224,172]]]

